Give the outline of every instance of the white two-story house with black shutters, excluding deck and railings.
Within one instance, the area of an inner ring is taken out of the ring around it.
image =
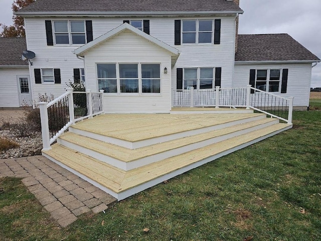
[[[239,1],[89,2],[39,0],[16,13],[36,54],[33,99],[58,97],[81,79],[104,89],[105,112],[169,112],[176,89],[247,84],[308,106],[311,66],[320,60],[286,34],[239,36]]]

